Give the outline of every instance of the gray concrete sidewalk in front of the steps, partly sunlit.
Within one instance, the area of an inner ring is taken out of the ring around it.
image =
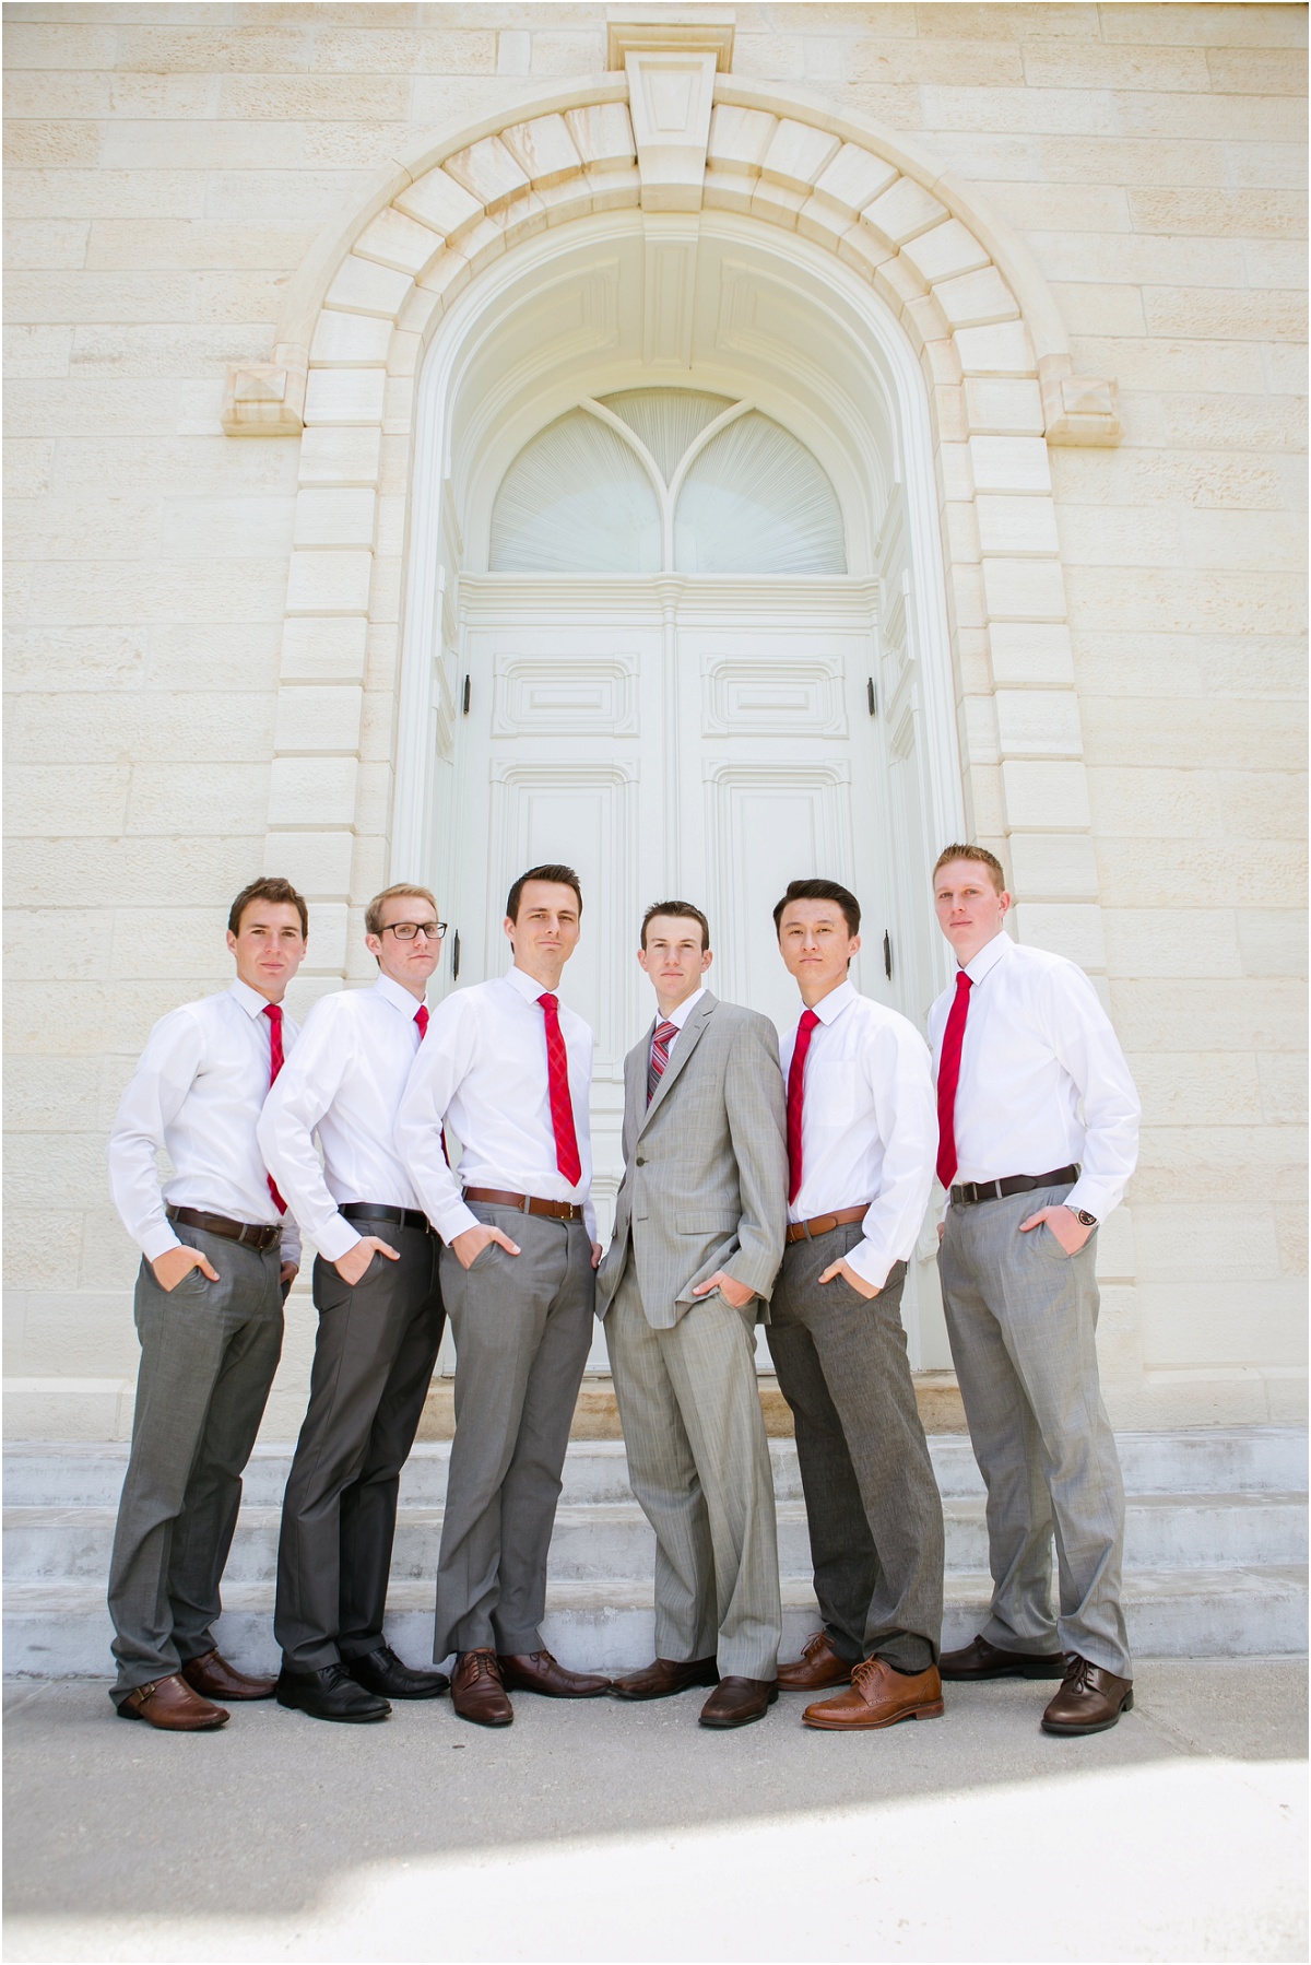
[[[10,1682],[6,1957],[1307,1955],[1299,1660],[1144,1660],[1085,1741],[1038,1731],[1042,1684],[859,1737],[698,1700],[165,1737],[104,1682]]]

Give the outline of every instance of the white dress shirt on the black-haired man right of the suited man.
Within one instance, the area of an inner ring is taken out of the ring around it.
[[[938,1108],[924,1038],[853,982],[816,1004],[806,1051],[802,1185],[788,1220],[859,1208],[865,1240],[845,1262],[875,1289],[908,1262],[934,1185]],[[788,1081],[796,1028],[778,1045]]]

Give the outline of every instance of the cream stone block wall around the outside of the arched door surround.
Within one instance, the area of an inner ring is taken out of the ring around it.
[[[733,77],[914,138],[1026,242],[1116,450],[1050,452],[1112,1010],[1144,1095],[1107,1236],[1122,1423],[1301,1409],[1305,14],[739,6]],[[226,981],[259,869],[295,438],[220,428],[320,228],[427,136],[605,67],[601,6],[12,6],[10,1423],[122,1432],[104,1132]],[[387,485],[403,511],[403,458]],[[366,702],[393,702],[393,645]],[[985,719],[987,721],[987,719]],[[364,715],[383,876],[391,709]],[[989,727],[971,737],[985,758]],[[313,1313],[283,1393],[299,1419]]]

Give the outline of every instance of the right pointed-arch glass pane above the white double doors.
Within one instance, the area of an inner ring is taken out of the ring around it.
[[[804,444],[751,409],[706,444],[674,513],[680,574],[845,574],[833,485]]]

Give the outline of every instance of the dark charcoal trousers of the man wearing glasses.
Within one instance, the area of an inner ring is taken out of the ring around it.
[[[442,1342],[436,1236],[362,1222],[373,1256],[354,1285],[314,1260],[318,1338],[277,1546],[273,1633],[293,1670],[362,1658],[383,1641],[401,1468]]]

